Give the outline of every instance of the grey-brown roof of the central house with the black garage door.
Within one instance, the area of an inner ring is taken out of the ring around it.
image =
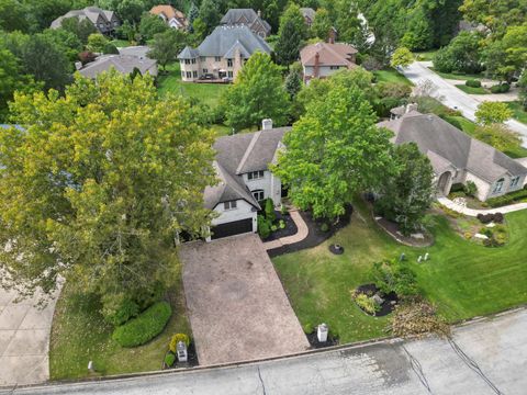
[[[268,170],[281,147],[283,135],[290,129],[291,127],[278,127],[216,139],[213,146],[216,150],[214,167],[220,183],[205,189],[205,206],[212,210],[218,203],[240,199],[260,210],[245,184],[243,174]]]

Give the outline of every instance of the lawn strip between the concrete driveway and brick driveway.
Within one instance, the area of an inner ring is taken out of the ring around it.
[[[80,295],[67,283],[57,302],[49,341],[52,380],[88,376],[88,361],[97,375],[158,370],[173,334],[191,335],[184,311],[182,287],[170,293],[172,316],[154,340],[135,348],[123,348],[112,340],[112,326],[100,315],[94,297]]]

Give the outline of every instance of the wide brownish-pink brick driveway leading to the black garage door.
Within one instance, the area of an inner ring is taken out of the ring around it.
[[[257,235],[181,246],[201,365],[304,351],[309,342]]]

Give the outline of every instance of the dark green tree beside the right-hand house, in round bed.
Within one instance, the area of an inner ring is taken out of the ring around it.
[[[419,228],[434,201],[434,169],[414,143],[394,146],[392,168],[379,190],[378,210],[399,224],[403,234]]]

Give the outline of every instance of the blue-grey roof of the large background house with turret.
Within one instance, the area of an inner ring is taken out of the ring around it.
[[[232,56],[231,49],[237,45],[248,54],[247,57],[259,50],[265,54],[270,54],[271,48],[264,38],[253,33],[249,27],[244,25],[238,26],[217,26],[214,31],[203,40],[197,49],[186,47],[179,55],[179,59],[188,59],[188,56]],[[246,57],[246,58],[247,58]]]

